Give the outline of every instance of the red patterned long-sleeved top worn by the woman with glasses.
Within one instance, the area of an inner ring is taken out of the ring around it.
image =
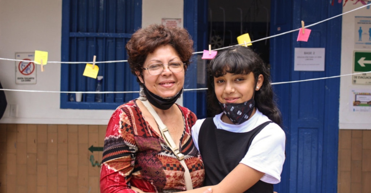
[[[193,144],[191,127],[196,115],[178,106],[183,114],[184,132],[180,151],[191,174],[193,187],[201,187],[204,166]],[[101,193],[134,193],[185,190],[184,168],[166,142],[142,116],[135,100],[119,106],[109,120],[104,139]]]

